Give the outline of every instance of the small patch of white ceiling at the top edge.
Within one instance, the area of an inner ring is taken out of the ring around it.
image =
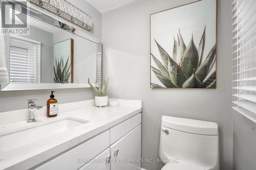
[[[94,6],[99,12],[103,13],[129,4],[135,0],[86,0],[89,4]]]

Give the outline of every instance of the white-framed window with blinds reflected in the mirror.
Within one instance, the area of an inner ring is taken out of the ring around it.
[[[10,82],[40,83],[40,42],[10,37]]]

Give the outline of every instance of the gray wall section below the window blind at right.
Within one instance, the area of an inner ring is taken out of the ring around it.
[[[233,169],[256,169],[256,122],[233,111]]]

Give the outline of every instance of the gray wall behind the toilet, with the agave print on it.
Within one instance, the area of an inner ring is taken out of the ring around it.
[[[208,120],[219,125],[221,169],[232,169],[231,2],[218,1],[217,89],[150,88],[150,14],[191,0],[137,0],[102,14],[103,74],[111,98],[140,99],[142,157],[158,158],[162,115]],[[185,12],[185,11],[184,11]],[[142,163],[146,169],[163,164]]]

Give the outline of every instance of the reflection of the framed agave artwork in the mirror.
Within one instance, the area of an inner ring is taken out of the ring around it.
[[[53,51],[54,83],[73,83],[74,40],[55,43]]]

